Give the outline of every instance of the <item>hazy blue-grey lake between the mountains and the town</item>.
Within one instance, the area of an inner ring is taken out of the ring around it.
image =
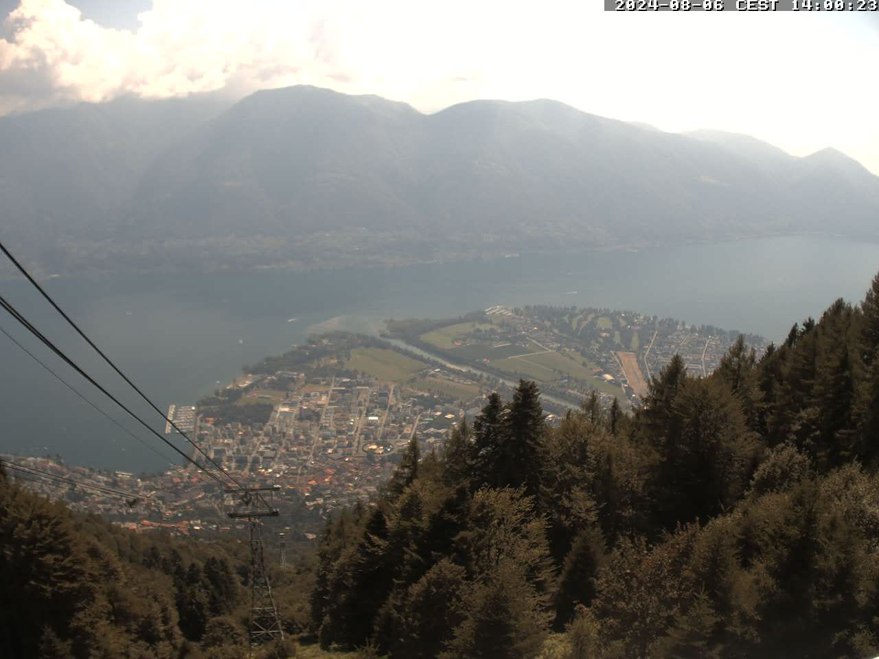
[[[287,350],[314,329],[375,332],[381,320],[392,317],[548,304],[672,316],[779,341],[795,321],[817,317],[838,297],[861,301],[877,271],[879,244],[796,236],[393,269],[55,279],[46,286],[122,370],[167,409],[172,402],[194,403],[227,384],[243,365]],[[0,282],[0,291],[99,381],[124,391],[118,377],[70,336],[72,330],[24,281]],[[0,317],[0,327],[102,408],[112,409],[27,339],[9,316]],[[71,463],[137,473],[165,464],[2,335],[0,365],[0,451],[60,453]],[[154,411],[134,396],[124,400],[163,432]],[[124,413],[113,416],[137,428]],[[172,454],[147,431],[137,434]]]

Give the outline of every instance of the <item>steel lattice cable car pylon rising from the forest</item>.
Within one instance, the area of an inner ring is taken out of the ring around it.
[[[272,597],[272,586],[265,572],[262,522],[260,518],[278,517],[278,509],[265,500],[263,492],[274,492],[273,488],[227,489],[226,494],[236,498],[232,510],[227,514],[233,519],[246,519],[251,532],[251,650],[276,638],[283,639],[278,609]]]

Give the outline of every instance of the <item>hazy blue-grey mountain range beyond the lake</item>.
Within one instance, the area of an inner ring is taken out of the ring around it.
[[[44,274],[879,237],[879,177],[832,148],[795,157],[551,100],[121,98],[2,118],[0,143],[0,230]]]

